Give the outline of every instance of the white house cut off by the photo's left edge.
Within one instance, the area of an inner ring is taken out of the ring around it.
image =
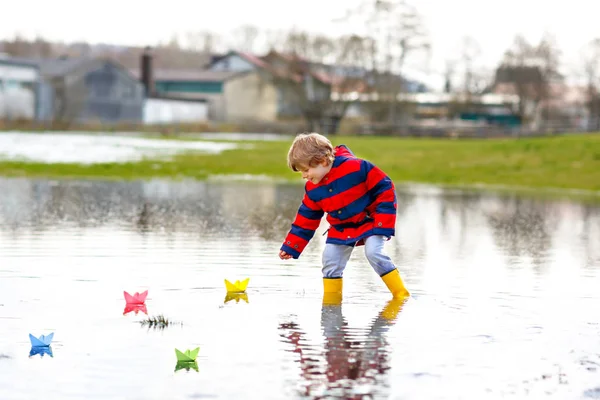
[[[0,119],[35,119],[39,80],[37,64],[0,53]]]

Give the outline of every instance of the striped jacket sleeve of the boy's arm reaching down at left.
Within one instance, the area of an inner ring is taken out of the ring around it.
[[[296,218],[292,222],[292,229],[287,234],[281,250],[290,254],[293,258],[300,257],[300,253],[302,253],[310,239],[314,236],[315,230],[321,224],[323,214],[325,213],[321,207],[309,199],[305,193],[302,204],[298,209],[298,214],[296,214]]]

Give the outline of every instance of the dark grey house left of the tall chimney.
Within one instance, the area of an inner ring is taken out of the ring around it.
[[[141,123],[144,88],[127,69],[104,59],[38,61],[40,119]]]

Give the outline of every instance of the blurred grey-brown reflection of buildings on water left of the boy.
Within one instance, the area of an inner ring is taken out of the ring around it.
[[[18,235],[118,222],[139,232],[257,234],[272,239],[297,210],[298,186],[205,182],[78,182],[0,178],[0,225]]]

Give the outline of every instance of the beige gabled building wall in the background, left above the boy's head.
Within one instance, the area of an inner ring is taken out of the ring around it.
[[[275,121],[277,90],[259,72],[251,72],[225,82],[227,121]]]

